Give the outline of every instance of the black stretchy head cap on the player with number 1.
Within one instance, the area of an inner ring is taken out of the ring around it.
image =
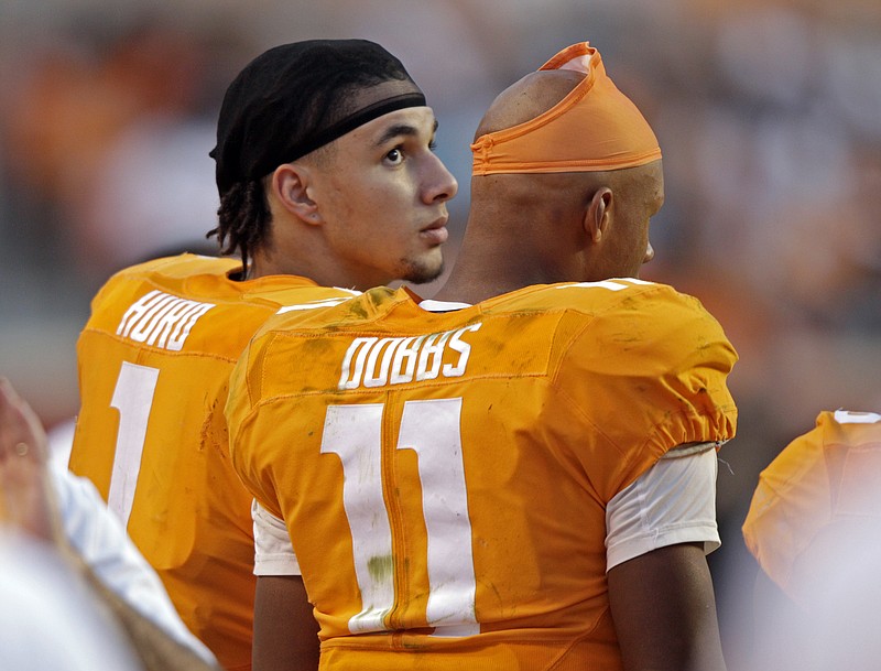
[[[403,64],[374,42],[307,40],[270,48],[224,96],[210,152],[220,197],[377,117],[424,105]]]

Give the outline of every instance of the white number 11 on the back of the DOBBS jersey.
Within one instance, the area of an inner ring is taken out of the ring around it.
[[[349,619],[352,634],[384,630],[394,606],[392,533],[382,493],[383,410],[381,403],[330,405],[322,437],[322,452],[342,462],[342,504],[361,592],[361,612]],[[480,632],[460,416],[460,398],[407,401],[398,435],[396,448],[417,455],[428,535],[426,618],[437,628],[435,636]]]

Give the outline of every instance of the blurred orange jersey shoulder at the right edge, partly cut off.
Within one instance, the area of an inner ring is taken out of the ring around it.
[[[857,555],[878,556],[881,414],[822,412],[759,476],[743,537],[762,570],[807,606]],[[875,532],[861,548],[861,533]],[[840,530],[840,531],[839,531]],[[875,571],[875,569],[872,569]]]

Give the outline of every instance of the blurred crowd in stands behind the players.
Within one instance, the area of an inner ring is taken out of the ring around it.
[[[312,37],[376,40],[425,89],[460,184],[450,261],[468,144],[502,88],[588,40],[644,111],[666,205],[643,277],[701,299],[741,356],[710,560],[729,668],[749,671],[740,524],[759,470],[820,410],[881,411],[881,3],[4,0],[0,375],[47,425],[77,411],[76,337],[108,275],[213,249],[227,84]]]

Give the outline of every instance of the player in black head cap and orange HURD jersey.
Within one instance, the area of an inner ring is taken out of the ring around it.
[[[435,130],[422,90],[378,44],[271,48],[229,86],[211,152],[213,232],[241,261],[150,261],[93,301],[70,468],[94,480],[229,671],[251,668],[255,583],[251,496],[224,419],[232,365],[280,310],[440,273],[457,184]]]

